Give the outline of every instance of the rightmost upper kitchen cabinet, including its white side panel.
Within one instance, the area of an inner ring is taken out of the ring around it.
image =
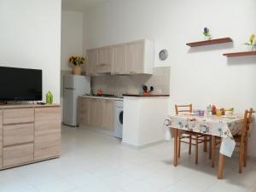
[[[141,40],[126,44],[125,67],[130,74],[152,74],[154,43],[148,40]]]

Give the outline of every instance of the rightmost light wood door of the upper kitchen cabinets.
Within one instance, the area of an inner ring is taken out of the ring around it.
[[[125,65],[129,73],[143,73],[144,43],[135,42],[126,44]]]

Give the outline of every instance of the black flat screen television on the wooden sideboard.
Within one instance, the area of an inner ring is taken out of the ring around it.
[[[0,67],[0,101],[41,101],[42,70]]]

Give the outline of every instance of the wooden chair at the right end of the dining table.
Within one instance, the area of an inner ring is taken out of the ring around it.
[[[239,173],[242,172],[242,166],[247,166],[248,131],[250,131],[253,124],[253,113],[255,113],[253,108],[245,110],[243,123],[241,125],[241,132],[234,136],[234,140],[236,141],[236,148],[239,148]],[[215,137],[215,139],[213,139],[212,146],[214,146],[214,149],[216,149],[216,146],[221,143],[220,141],[220,137]],[[214,149],[212,149],[212,167],[215,164],[215,158],[213,157],[215,156]]]

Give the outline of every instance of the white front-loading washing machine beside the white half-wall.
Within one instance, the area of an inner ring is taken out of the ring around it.
[[[123,116],[124,116],[124,102],[115,102],[115,115],[114,115],[114,131],[113,136],[122,138],[123,137]]]

